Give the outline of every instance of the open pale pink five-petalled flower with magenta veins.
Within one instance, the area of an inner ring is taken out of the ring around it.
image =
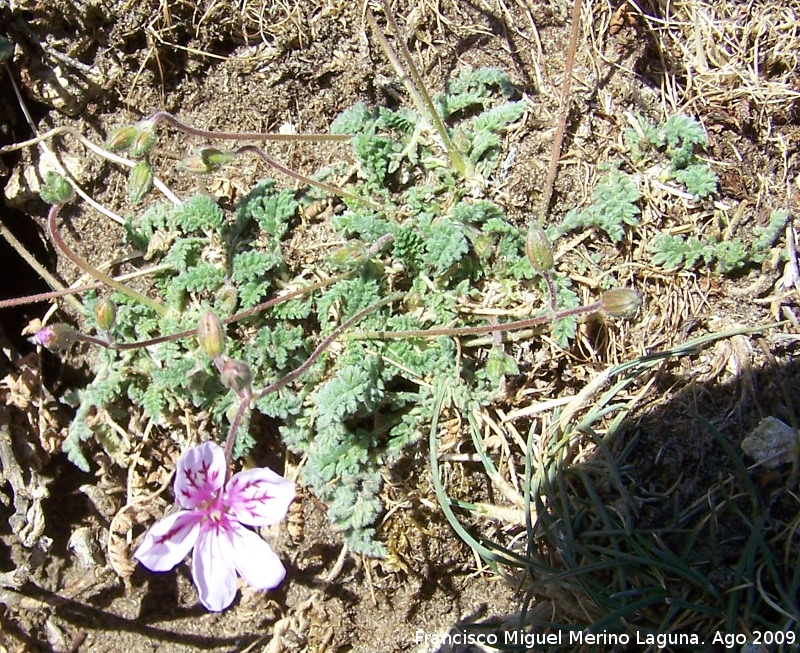
[[[246,526],[271,526],[285,516],[294,483],[271,469],[234,474],[225,483],[222,448],[205,442],[178,460],[173,513],[145,535],[134,557],[151,571],[169,571],[194,549],[192,578],[200,602],[224,610],[236,596],[236,576],[260,590],[280,585],[286,570],[270,546]],[[223,487],[224,485],[224,487]]]

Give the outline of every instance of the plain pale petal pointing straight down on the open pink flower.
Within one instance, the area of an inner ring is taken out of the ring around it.
[[[192,556],[192,578],[200,602],[214,612],[224,610],[236,598],[233,546],[224,531],[204,528]]]

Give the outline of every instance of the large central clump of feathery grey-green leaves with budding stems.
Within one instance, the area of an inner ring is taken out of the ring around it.
[[[392,52],[385,37],[382,45]],[[413,65],[409,57],[406,63]],[[500,379],[516,372],[503,332],[554,323],[556,341],[566,345],[578,316],[635,310],[632,291],[581,306],[552,269],[551,252],[543,263],[546,237],[529,247],[538,253],[529,260],[525,231],[492,201],[487,180],[503,132],[527,107],[509,77],[468,68],[439,95],[415,87],[422,91],[416,110],[358,104],[334,121],[332,134],[293,137],[349,143],[357,176],[347,188],[329,183],[335,165],[307,178],[254,145],[196,149],[182,162],[187,172],[255,155],[303,184],[295,191],[264,180],[233,213],[204,195],[180,201],[165,192],[150,164],[159,125],[207,139],[289,137],[211,133],[163,112],[110,134],[106,148],[132,159],[108,155],[131,169],[130,203],[147,201],[153,188],[169,200],[149,202],[125,223],[127,244],[145,252],[150,266],[147,293],[67,247],[58,220],[71,189],[53,177],[44,195],[54,204],[54,244],[113,290],[86,295],[84,328],[53,325],[38,336],[53,348],[76,340],[100,347],[93,380],[69,398],[75,417],[62,446],[72,462],[88,470],[86,446],[94,441],[112,456],[123,452],[131,407],[181,442],[187,411],[221,430],[228,424],[227,453],[241,457],[258,437],[252,408],[274,420],[286,446],[303,457],[300,480],[328,506],[348,546],[382,555],[374,530],[383,508],[381,470],[430,422],[434,379],[460,379],[469,388],[465,410],[490,402]],[[344,244],[310,270],[287,256],[287,241],[301,206],[331,195],[341,202],[331,237]],[[308,281],[309,272],[319,281]],[[489,288],[502,305],[520,303],[524,289],[541,297],[541,307],[526,319],[487,324],[463,309]],[[109,301],[113,320],[103,308]],[[190,337],[209,311],[225,325],[224,356]],[[455,340],[492,334],[469,352]]]

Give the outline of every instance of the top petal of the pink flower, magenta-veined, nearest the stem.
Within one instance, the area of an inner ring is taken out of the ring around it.
[[[225,483],[225,453],[215,442],[192,447],[178,459],[175,500],[182,508],[195,508],[214,497]]]

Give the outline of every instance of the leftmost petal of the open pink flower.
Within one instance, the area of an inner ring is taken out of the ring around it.
[[[200,534],[201,515],[180,510],[157,522],[133,557],[150,571],[169,571],[192,550]]]

